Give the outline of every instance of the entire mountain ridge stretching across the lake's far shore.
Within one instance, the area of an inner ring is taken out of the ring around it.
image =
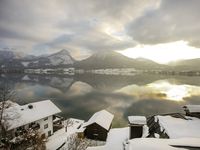
[[[198,70],[200,58],[180,60],[168,65],[158,64],[146,58],[129,58],[115,51],[96,52],[90,57],[77,61],[70,53],[62,49],[49,55],[21,55],[13,51],[0,50],[1,68],[65,68],[77,69],[107,69],[107,68],[135,68],[137,70],[165,70],[165,71],[188,71]]]

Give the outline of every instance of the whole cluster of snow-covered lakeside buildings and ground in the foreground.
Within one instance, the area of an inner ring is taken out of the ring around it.
[[[43,149],[48,150],[200,148],[199,105],[184,106],[185,114],[127,116],[128,124],[123,128],[112,128],[112,120],[117,116],[106,110],[91,114],[91,118],[85,121],[59,116],[61,110],[51,100],[26,105],[7,101],[5,106],[1,124],[6,139],[1,140],[1,148],[26,143],[24,135],[28,133],[31,136],[38,133]]]

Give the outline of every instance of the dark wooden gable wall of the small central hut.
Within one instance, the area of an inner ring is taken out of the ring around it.
[[[85,136],[89,139],[106,141],[108,131],[96,123],[86,127]]]

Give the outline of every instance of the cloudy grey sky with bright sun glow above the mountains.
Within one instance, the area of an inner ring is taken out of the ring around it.
[[[200,58],[199,0],[0,0],[0,50]]]

